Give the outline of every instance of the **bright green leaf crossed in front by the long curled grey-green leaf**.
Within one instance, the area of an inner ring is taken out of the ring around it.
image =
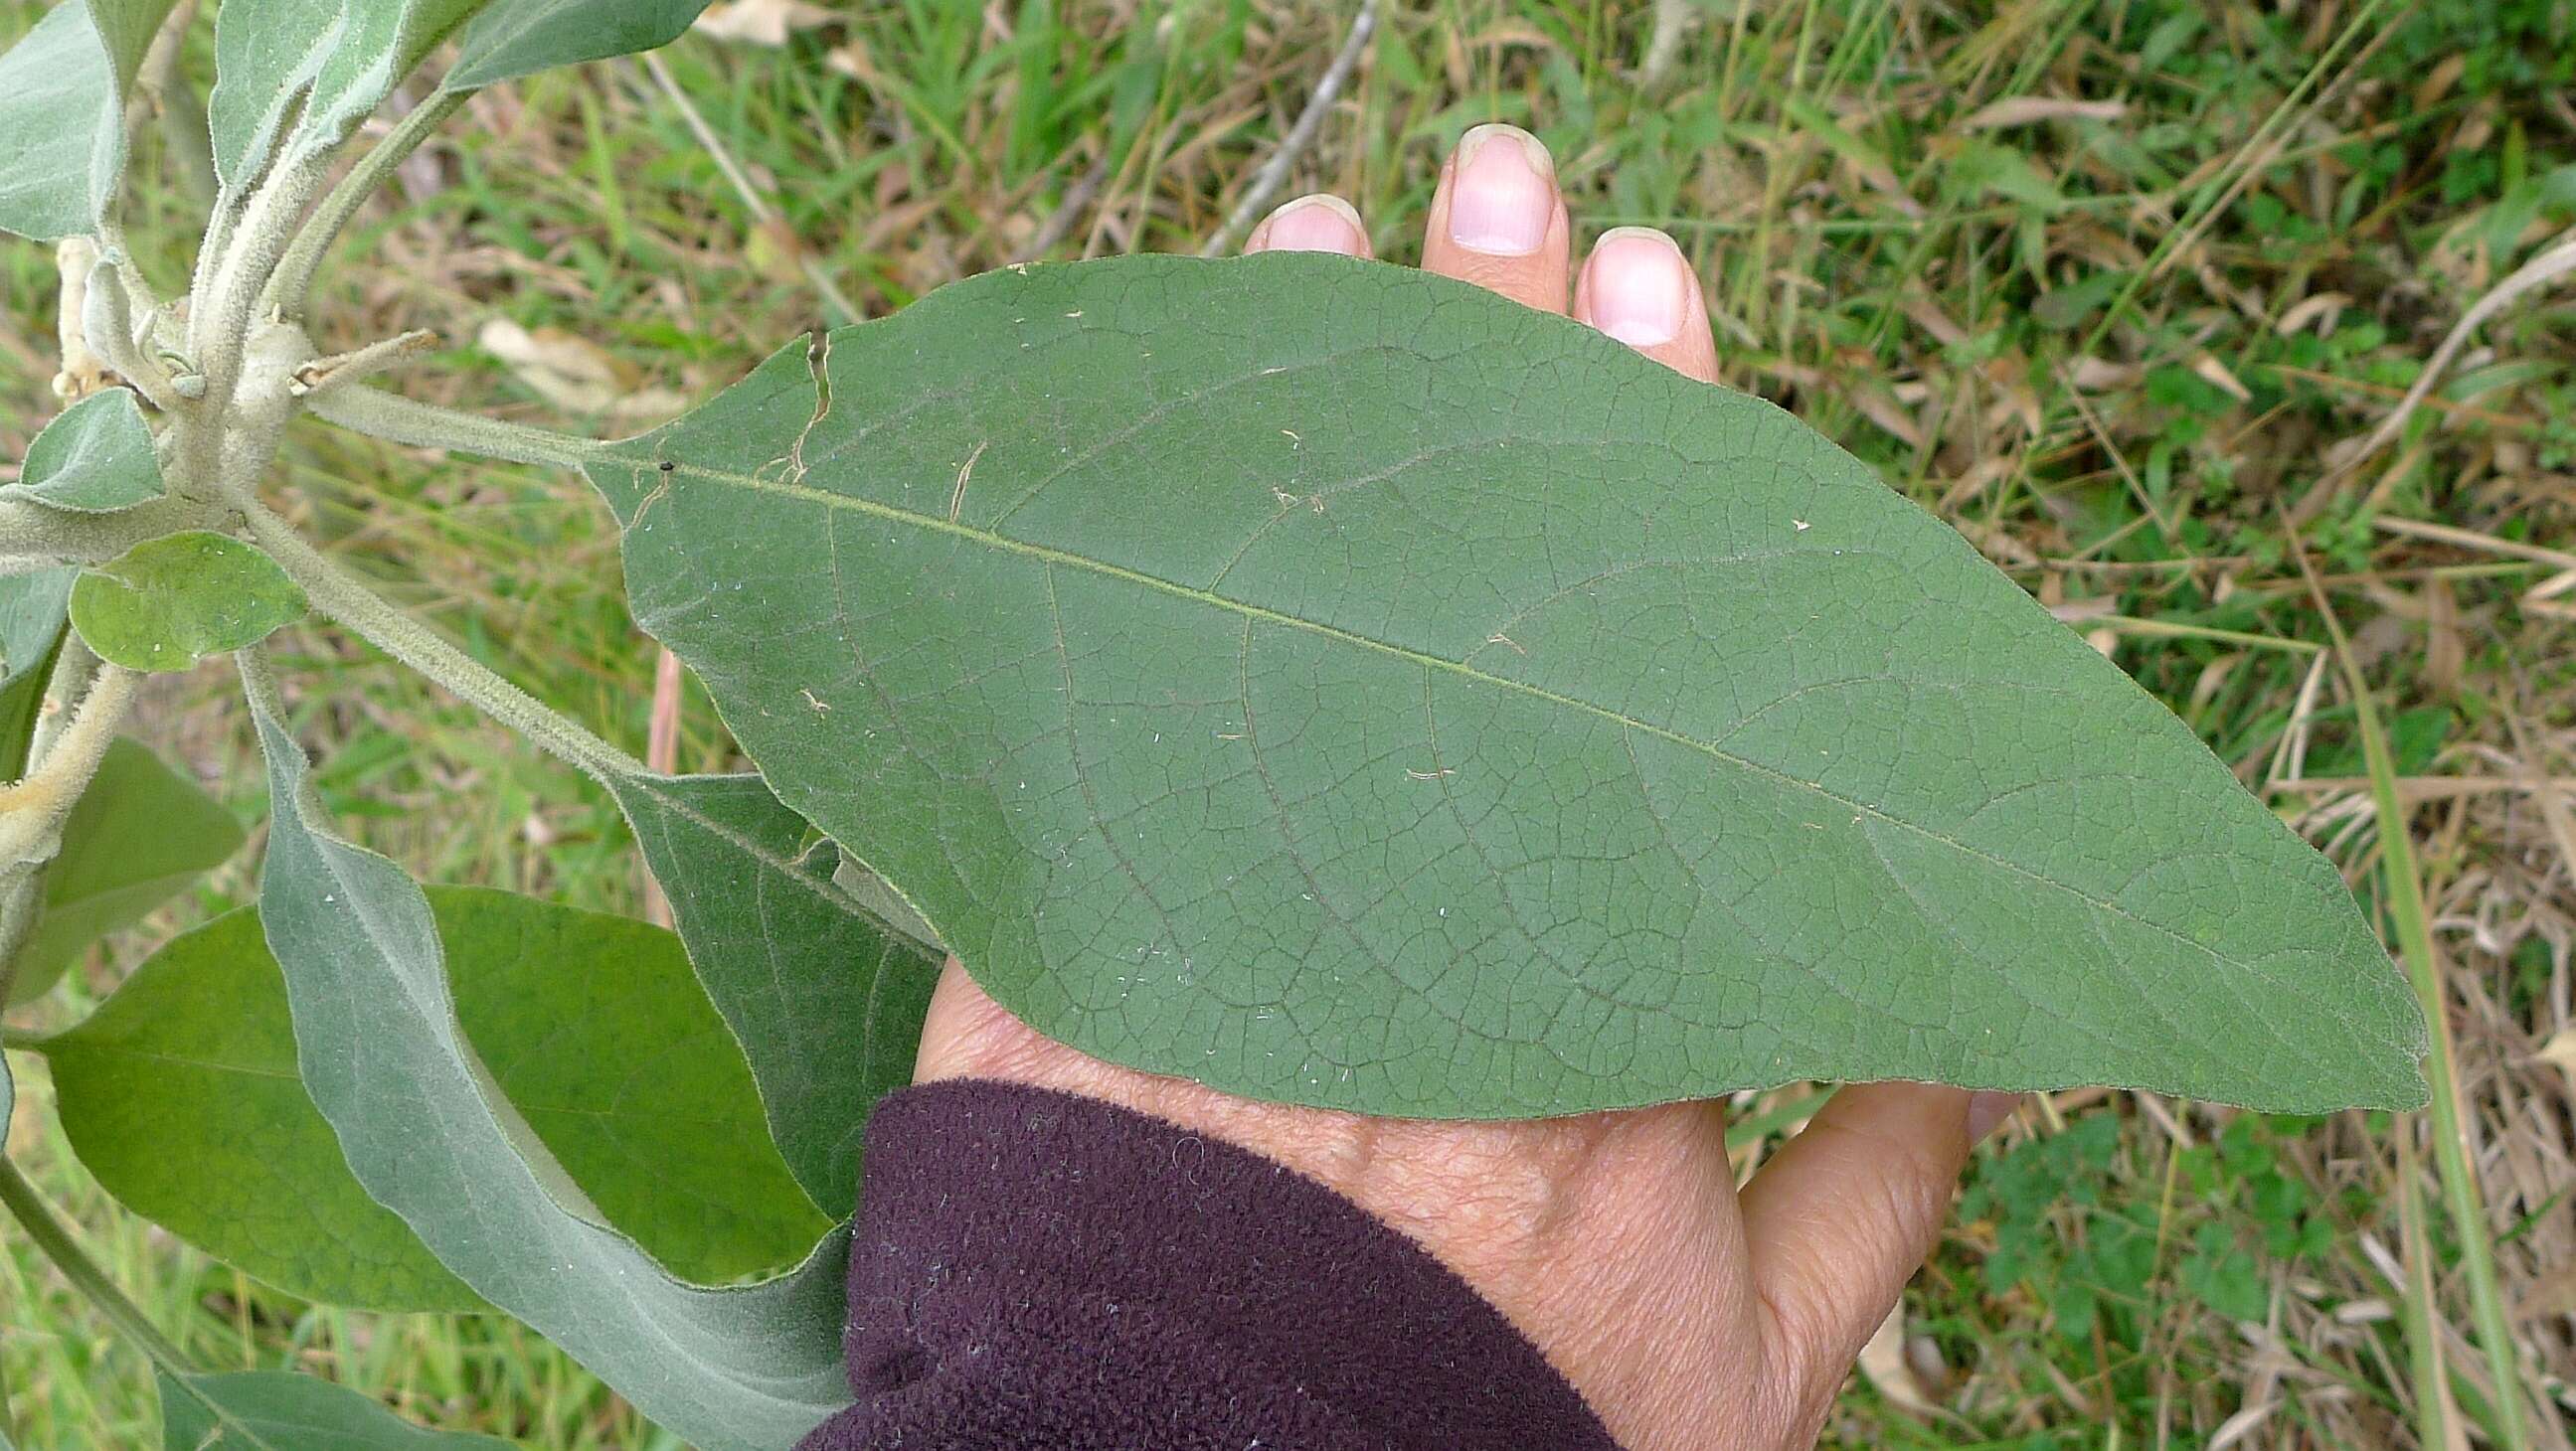
[[[479,887],[435,887],[430,910],[466,1041],[654,1260],[724,1281],[829,1229],[670,933]],[[296,1077],[286,979],[252,910],[173,938],[44,1052],[72,1147],[137,1214],[307,1299],[482,1307],[350,1178]]]

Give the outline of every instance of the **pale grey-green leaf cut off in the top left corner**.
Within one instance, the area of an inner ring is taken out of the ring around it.
[[[0,57],[0,232],[98,232],[126,170],[126,90],[173,0],[62,0]]]

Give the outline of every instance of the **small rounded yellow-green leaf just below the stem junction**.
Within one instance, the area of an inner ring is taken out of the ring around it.
[[[227,533],[149,539],[72,585],[72,629],[126,670],[188,670],[304,619],[304,588]]]

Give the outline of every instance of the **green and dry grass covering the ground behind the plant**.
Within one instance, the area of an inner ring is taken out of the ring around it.
[[[0,36],[36,13],[0,0]],[[1084,178],[1095,193],[1054,255],[1195,250],[1342,31],[1334,8],[1249,0],[850,15],[783,52],[667,52],[781,227],[752,219],[639,67],[536,77],[477,98],[361,219],[322,343],[435,327],[448,348],[407,392],[605,433],[538,402],[477,327],[559,327],[634,369],[634,387],[703,397],[819,320],[804,260],[884,314],[1020,258]],[[1582,229],[1682,240],[1728,384],[1953,518],[2251,786],[2290,778],[2293,760],[2306,778],[2365,773],[2331,668],[2308,688],[2329,634],[2285,513],[2354,631],[2401,776],[2576,776],[2576,595],[2530,595],[2548,564],[2378,528],[2576,539],[2576,289],[2499,314],[2378,459],[2347,477],[2326,459],[2393,407],[2478,294],[2576,224],[2576,116],[2555,101],[2576,77],[2566,5],[1770,0],[1705,15],[1669,90],[1646,95],[1641,3],[1391,13],[1291,191],[1350,196],[1381,255],[1404,260],[1448,142],[1520,121],[1553,147]],[[2007,98],[2123,113],[1976,124]],[[137,250],[173,286],[183,196],[152,155],[142,178],[162,227],[137,227]],[[41,247],[0,247],[0,296],[10,459],[49,412]],[[276,497],[479,657],[641,750],[654,649],[577,479],[309,428]],[[636,907],[631,845],[587,783],[363,647],[314,629],[286,644],[307,735],[345,742],[322,786],[363,840],[430,879]],[[149,732],[245,820],[263,809],[219,675],[162,691]],[[690,693],[680,763],[726,750]],[[2269,799],[2378,902],[2367,786]],[[2509,1302],[2537,1304],[2517,1322],[2524,1363],[2558,1376],[2566,1412],[2576,1304],[2545,1296],[2566,1294],[2548,1273],[2576,1258],[2576,1170],[2566,1077],[2532,1057],[2566,1028],[2566,843],[2522,791],[2437,799],[2411,827],[2488,1147],[2499,1273]],[[245,884],[234,866],[160,928]],[[13,1021],[77,1018],[149,941],[113,943]],[[314,1369],[531,1446],[652,1446],[507,1322],[304,1307],[116,1211],[52,1126],[41,1064],[10,1067],[26,1100],[10,1152],[206,1363]],[[2411,1446],[2406,1286],[2372,1245],[2401,1245],[2396,1137],[2414,1131],[2058,1095],[1981,1152],[1909,1294],[1937,1415],[1862,1376],[1829,1438],[2202,1446],[2233,1420],[2239,1446]],[[2465,1335],[2460,1240],[2439,1196],[2424,1201],[2437,1312]],[[2468,1340],[2447,1374],[2486,1436],[2491,1384]],[[21,1446],[152,1441],[142,1363],[15,1240],[0,1253],[0,1384]],[[2566,1446],[2553,1433],[2540,1446]]]

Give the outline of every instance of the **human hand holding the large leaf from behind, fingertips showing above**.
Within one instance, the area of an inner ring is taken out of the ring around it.
[[[1298,198],[1244,245],[1370,255],[1340,198]],[[1716,381],[1690,263],[1620,227],[1571,271],[1535,137],[1476,126],[1432,196],[1427,271],[1471,281]],[[2009,1095],[1844,1088],[1741,1191],[1718,1103],[1520,1124],[1368,1119],[1252,1103],[1084,1057],[948,961],[917,1080],[989,1077],[1105,1098],[1229,1139],[1394,1224],[1494,1302],[1631,1451],[1814,1443],[1852,1358],[1932,1250],[1968,1147]]]

